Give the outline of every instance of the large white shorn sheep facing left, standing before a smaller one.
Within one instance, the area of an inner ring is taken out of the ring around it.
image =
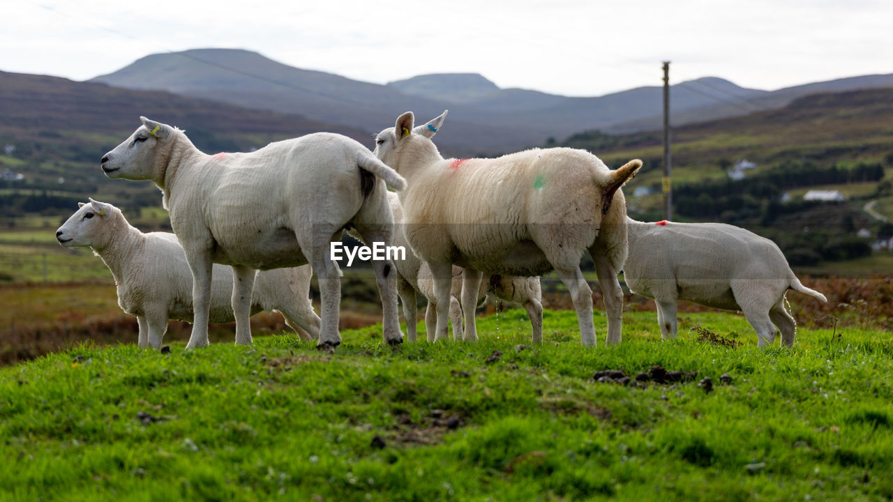
[[[193,276],[195,323],[187,347],[208,343],[213,263],[233,267],[237,344],[252,340],[248,310],[255,270],[309,263],[321,291],[317,347],[338,347],[341,271],[330,259],[330,242],[353,227],[367,241],[389,245],[394,218],[379,179],[402,189],[403,177],[340,134],[317,132],[251,153],[205,155],[184,131],[146,117],[140,121],[143,125],[103,156],[101,167],[109,178],[153,180],[163,192]],[[383,338],[400,343],[394,265],[380,260],[373,266]]]

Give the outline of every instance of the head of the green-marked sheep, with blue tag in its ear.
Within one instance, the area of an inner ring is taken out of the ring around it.
[[[405,173],[407,163],[435,160],[425,157],[435,155],[439,158],[437,146],[434,146],[431,138],[446,117],[447,110],[433,121],[413,127],[413,113],[406,112],[397,117],[393,128],[382,130],[375,136],[375,150],[372,153],[401,174]]]

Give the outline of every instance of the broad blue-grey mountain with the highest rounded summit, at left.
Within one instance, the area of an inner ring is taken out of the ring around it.
[[[121,88],[166,90],[280,113],[299,113],[360,128],[367,135],[393,125],[396,117],[407,110],[427,121],[451,105],[447,101],[406,95],[388,86],[293,68],[238,49],[152,54],[90,81]],[[536,127],[510,125],[493,130],[465,121],[463,113],[450,112],[450,127],[439,138],[455,147],[520,148],[544,137]]]

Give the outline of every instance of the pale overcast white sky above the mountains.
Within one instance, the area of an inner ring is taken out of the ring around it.
[[[0,71],[83,80],[148,54],[242,48],[384,84],[480,73],[501,88],[602,96],[714,76],[774,90],[893,73],[887,0],[19,0]]]

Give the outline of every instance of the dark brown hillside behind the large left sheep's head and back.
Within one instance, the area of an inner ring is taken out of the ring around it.
[[[299,115],[163,91],[0,71],[0,146],[4,147],[0,172],[25,176],[21,181],[0,181],[0,187],[53,190],[79,200],[90,196],[115,204],[137,204],[143,197],[139,200],[157,204],[158,190],[151,183],[108,180],[98,167],[105,152],[139,127],[140,115],[187,130],[196,146],[208,153],[246,151],[319,130],[339,132],[371,146],[364,130]]]

